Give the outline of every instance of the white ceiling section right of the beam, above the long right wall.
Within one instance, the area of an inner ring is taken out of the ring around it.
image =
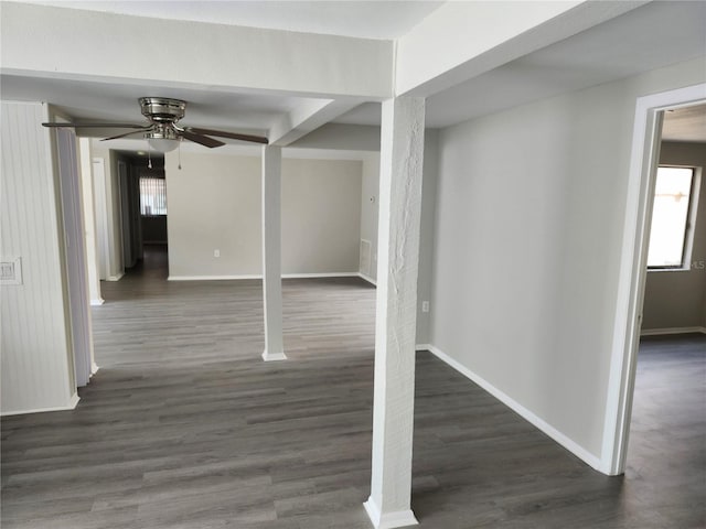
[[[706,54],[706,2],[652,2],[427,99],[442,128]],[[705,64],[706,68],[706,64]],[[379,104],[335,120],[379,125]]]

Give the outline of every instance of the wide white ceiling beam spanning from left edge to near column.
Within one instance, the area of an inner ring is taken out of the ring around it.
[[[298,97],[392,96],[392,41],[3,2],[2,73]]]

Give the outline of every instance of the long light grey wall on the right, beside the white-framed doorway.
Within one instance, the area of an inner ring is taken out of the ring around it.
[[[704,58],[443,129],[430,342],[601,456],[635,99]]]

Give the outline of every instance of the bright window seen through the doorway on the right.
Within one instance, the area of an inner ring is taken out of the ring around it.
[[[694,168],[657,169],[648,268],[687,268],[693,222]]]

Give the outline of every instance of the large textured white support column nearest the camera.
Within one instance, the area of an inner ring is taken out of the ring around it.
[[[378,529],[417,523],[410,508],[422,98],[383,102],[373,475],[365,510]]]

